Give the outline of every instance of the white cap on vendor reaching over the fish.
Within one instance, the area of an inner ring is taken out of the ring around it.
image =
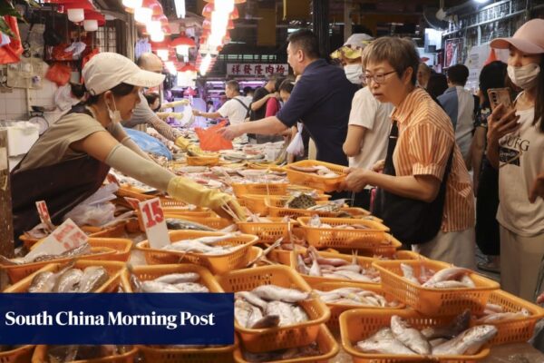
[[[85,88],[92,95],[127,83],[139,87],[154,87],[164,81],[164,74],[144,71],[129,58],[117,53],[99,53],[83,66]]]

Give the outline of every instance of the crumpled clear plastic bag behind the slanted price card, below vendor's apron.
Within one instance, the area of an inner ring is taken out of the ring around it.
[[[96,191],[92,196],[79,203],[72,211],[69,211],[64,216],[64,221],[68,218],[78,226],[95,226],[101,227],[115,219],[115,205],[110,201],[114,200],[115,191],[119,186],[115,183],[104,185]]]

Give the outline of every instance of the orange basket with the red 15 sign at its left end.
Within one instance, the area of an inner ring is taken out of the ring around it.
[[[170,242],[178,240],[191,240],[207,236],[221,236],[224,233],[206,231],[170,231]],[[209,269],[213,274],[222,274],[231,270],[245,268],[250,258],[250,248],[257,243],[257,236],[240,234],[228,240],[217,242],[216,245],[238,245],[238,250],[230,253],[212,256],[201,253],[184,253],[174,250],[151,249],[148,240],[143,240],[136,245],[137,250],[143,251],[145,260],[150,265],[189,262]]]

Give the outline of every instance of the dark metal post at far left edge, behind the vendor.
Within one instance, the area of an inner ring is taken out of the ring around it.
[[[14,256],[14,226],[7,159],[7,130],[0,130],[0,255]]]

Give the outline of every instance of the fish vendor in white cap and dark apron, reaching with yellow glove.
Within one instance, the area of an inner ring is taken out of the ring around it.
[[[162,83],[164,75],[115,53],[94,55],[82,74],[86,102],[53,123],[11,173],[15,240],[40,222],[35,201],[44,200],[53,223],[60,224],[64,214],[101,187],[110,168],[221,216],[229,216],[225,208],[243,215],[230,195],[153,162],[121,127],[141,102],[141,88]]]

